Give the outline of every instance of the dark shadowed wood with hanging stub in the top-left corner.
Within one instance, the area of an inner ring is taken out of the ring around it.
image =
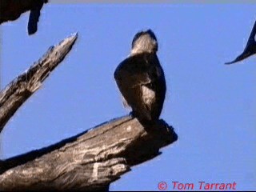
[[[21,14],[30,10],[28,33],[34,34],[38,29],[38,19],[42,5],[48,0],[0,0],[0,24],[14,21]]]

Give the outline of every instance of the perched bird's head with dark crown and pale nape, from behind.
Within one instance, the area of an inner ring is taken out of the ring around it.
[[[140,31],[135,34],[131,54],[156,53],[158,51],[158,40],[152,30]]]

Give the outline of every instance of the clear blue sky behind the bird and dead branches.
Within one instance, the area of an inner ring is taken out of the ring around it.
[[[71,33],[78,42],[2,132],[2,158],[49,146],[128,114],[113,73],[138,30],[154,30],[166,74],[162,118],[178,142],[134,166],[110,190],[158,190],[158,182],[236,182],[256,190],[256,59],[242,53],[254,4],[47,4],[38,32],[28,14],[1,26],[2,87]]]

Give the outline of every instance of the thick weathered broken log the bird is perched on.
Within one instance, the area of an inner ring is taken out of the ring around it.
[[[130,166],[177,140],[163,121],[143,127],[123,117],[0,163],[1,190],[107,190]]]

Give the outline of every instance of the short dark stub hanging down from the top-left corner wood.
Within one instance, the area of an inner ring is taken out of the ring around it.
[[[28,34],[34,34],[38,30],[38,21],[40,17],[40,11],[44,3],[47,3],[48,0],[38,0],[34,1],[34,4],[30,10],[30,18],[27,25]]]

